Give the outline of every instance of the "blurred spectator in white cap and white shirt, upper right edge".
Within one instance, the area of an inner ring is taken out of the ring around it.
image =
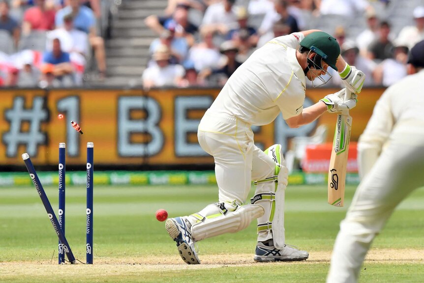
[[[424,39],[424,6],[417,6],[412,14],[415,26],[404,27],[397,36],[397,41],[407,42],[409,49]]]

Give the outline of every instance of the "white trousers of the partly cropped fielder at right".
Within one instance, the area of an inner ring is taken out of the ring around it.
[[[404,142],[405,140],[414,143]],[[394,208],[424,186],[424,135],[410,133],[392,141],[355,192],[341,221],[327,283],[356,283],[366,252]]]

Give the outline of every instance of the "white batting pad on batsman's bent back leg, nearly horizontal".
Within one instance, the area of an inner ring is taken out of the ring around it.
[[[225,233],[235,233],[246,228],[250,222],[264,214],[260,205],[246,204],[237,207],[233,212],[212,218],[204,218],[191,227],[191,235],[195,241],[215,237]]]

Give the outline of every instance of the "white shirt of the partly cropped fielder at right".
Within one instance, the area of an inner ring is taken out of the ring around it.
[[[424,125],[424,95],[421,82],[424,70],[409,75],[389,87],[378,99],[372,116],[358,143],[359,169],[365,176],[374,165],[387,143],[401,142],[415,145],[419,139],[411,138],[411,133],[423,135],[417,130]]]

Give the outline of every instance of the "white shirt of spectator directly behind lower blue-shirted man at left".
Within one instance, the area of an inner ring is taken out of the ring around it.
[[[51,51],[53,48],[53,39],[59,38],[61,41],[61,49],[64,52],[78,52],[84,55],[88,54],[89,39],[84,31],[71,30],[66,31],[59,28],[47,32],[46,50]]]

